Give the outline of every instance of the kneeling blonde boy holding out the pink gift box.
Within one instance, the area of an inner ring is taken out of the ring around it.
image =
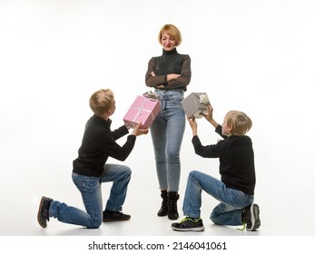
[[[88,229],[99,228],[102,221],[131,218],[121,210],[123,210],[132,171],[127,166],[110,164],[106,161],[109,157],[119,161],[127,159],[133,151],[136,136],[146,134],[148,129],[140,129],[141,123],[139,123],[121,146],[115,141],[129,131],[125,125],[111,131],[110,117],[116,108],[113,92],[110,89],[96,91],[92,94],[89,103],[94,115],[85,124],[82,145],[78,151],[79,156],[74,160],[72,173],[74,184],[81,192],[86,211],[42,197],[37,221],[43,228],[47,227],[47,221],[52,217]],[[101,184],[109,181],[113,181],[113,185],[103,210]]]

